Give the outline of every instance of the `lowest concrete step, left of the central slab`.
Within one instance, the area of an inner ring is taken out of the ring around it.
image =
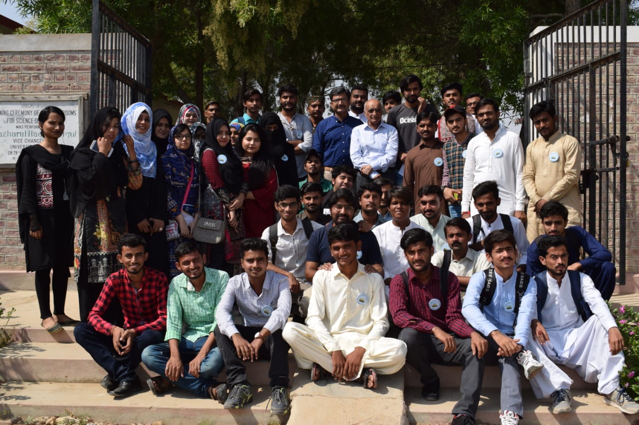
[[[212,399],[196,398],[182,389],[153,396],[146,389],[127,398],[109,396],[99,384],[63,384],[59,382],[4,382],[0,384],[1,406],[13,417],[38,417],[65,410],[74,415],[89,415],[96,422],[164,425],[215,425],[286,423],[286,415],[270,414],[270,388],[253,387],[253,401],[244,408],[226,410]],[[207,422],[208,421],[208,422]],[[291,422],[295,423],[295,422]]]

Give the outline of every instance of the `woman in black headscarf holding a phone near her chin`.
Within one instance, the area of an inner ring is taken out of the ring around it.
[[[68,193],[71,214],[77,219],[73,265],[82,322],[109,274],[122,267],[117,257],[119,238],[127,233],[127,188],[142,185],[133,142],[127,142],[127,156],[121,137],[119,111],[102,108],[71,154]],[[114,316],[121,317],[118,308],[109,313],[112,323],[117,320]]]

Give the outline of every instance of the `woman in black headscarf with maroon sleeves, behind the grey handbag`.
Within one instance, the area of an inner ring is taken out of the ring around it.
[[[240,264],[240,242],[245,237],[242,204],[247,184],[244,183],[242,161],[231,145],[229,128],[229,123],[222,118],[206,124],[206,144],[202,153],[202,174],[206,179],[203,181],[202,214],[224,220],[228,233],[226,241],[206,247],[208,265],[233,274],[226,264]]]

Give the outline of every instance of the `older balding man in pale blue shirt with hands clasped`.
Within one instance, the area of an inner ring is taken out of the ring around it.
[[[358,171],[357,188],[380,177],[394,178],[397,158],[397,130],[381,121],[381,102],[364,104],[367,121],[351,133],[351,161]]]

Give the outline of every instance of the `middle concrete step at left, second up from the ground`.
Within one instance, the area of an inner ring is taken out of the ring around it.
[[[292,354],[289,354],[288,361],[289,379],[292,379],[296,368]],[[268,361],[247,363],[251,384],[268,386],[268,366]],[[0,380],[95,384],[104,375],[104,369],[77,344],[13,343],[0,350]],[[146,380],[157,374],[140,364],[137,375]],[[218,380],[226,380],[224,372]]]

